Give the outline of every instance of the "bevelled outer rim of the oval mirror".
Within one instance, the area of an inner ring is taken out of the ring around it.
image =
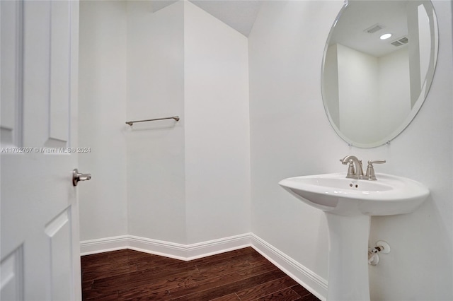
[[[410,1],[410,0],[406,0],[406,1]],[[409,126],[409,124],[411,124],[411,122],[413,121],[415,116],[420,111],[420,107],[422,107],[423,102],[425,102],[425,99],[427,98],[428,92],[429,92],[430,87],[432,85],[432,81],[434,80],[435,69],[436,69],[436,66],[437,66],[437,57],[438,57],[438,52],[439,52],[439,25],[437,23],[437,14],[435,12],[434,6],[432,5],[432,2],[431,1],[426,1],[426,2],[429,2],[430,5],[432,6],[432,18],[433,18],[432,24],[434,26],[434,35],[431,35],[431,42],[432,42],[432,45],[434,47],[434,49],[432,49],[432,51],[434,52],[433,53],[434,62],[432,63],[432,75],[431,75],[431,78],[430,78],[430,82],[429,82],[429,84],[427,83],[428,81],[427,81],[426,78],[428,76],[426,76],[425,77],[425,81],[423,83],[423,87],[421,88],[421,91],[420,91],[420,95],[418,95],[417,101],[413,105],[413,107],[411,109],[411,112],[408,114],[406,119],[404,119],[401,122],[401,125],[398,126],[394,131],[391,132],[391,134],[387,135],[385,138],[382,138],[382,139],[380,139],[378,141],[374,141],[372,143],[360,143],[358,141],[352,141],[352,139],[350,139],[347,136],[345,136],[345,134],[343,134],[340,131],[340,129],[338,129],[338,126],[336,126],[335,122],[333,122],[331,114],[328,111],[328,105],[327,105],[327,102],[326,102],[326,93],[324,91],[324,86],[325,86],[325,83],[324,83],[324,69],[325,69],[325,63],[326,63],[326,53],[327,53],[327,50],[328,50],[329,41],[331,40],[331,37],[333,35],[333,30],[335,30],[336,24],[338,23],[338,20],[343,15],[343,12],[345,11],[345,9],[348,8],[348,5],[349,5],[348,0],[345,0],[345,4],[343,4],[343,7],[340,9],[340,12],[338,13],[338,16],[333,21],[333,25],[331,26],[331,30],[330,30],[330,32],[328,34],[328,37],[327,37],[327,40],[326,40],[326,46],[324,47],[323,60],[322,60],[322,64],[321,64],[321,96],[322,96],[322,99],[323,99],[323,106],[324,106],[324,110],[326,112],[326,115],[328,117],[328,121],[330,122],[331,126],[336,131],[338,136],[340,136],[340,138],[342,138],[343,141],[348,143],[349,146],[356,146],[358,148],[375,148],[375,147],[378,147],[378,146],[383,146],[385,144],[390,144],[390,142],[392,140],[394,140],[394,138],[396,138],[399,134],[401,134]],[[429,69],[428,69],[428,71],[429,71]]]

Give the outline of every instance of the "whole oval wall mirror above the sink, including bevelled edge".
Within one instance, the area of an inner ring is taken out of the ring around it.
[[[430,1],[348,1],[328,35],[321,71],[333,129],[360,148],[403,131],[430,88],[437,61]]]

